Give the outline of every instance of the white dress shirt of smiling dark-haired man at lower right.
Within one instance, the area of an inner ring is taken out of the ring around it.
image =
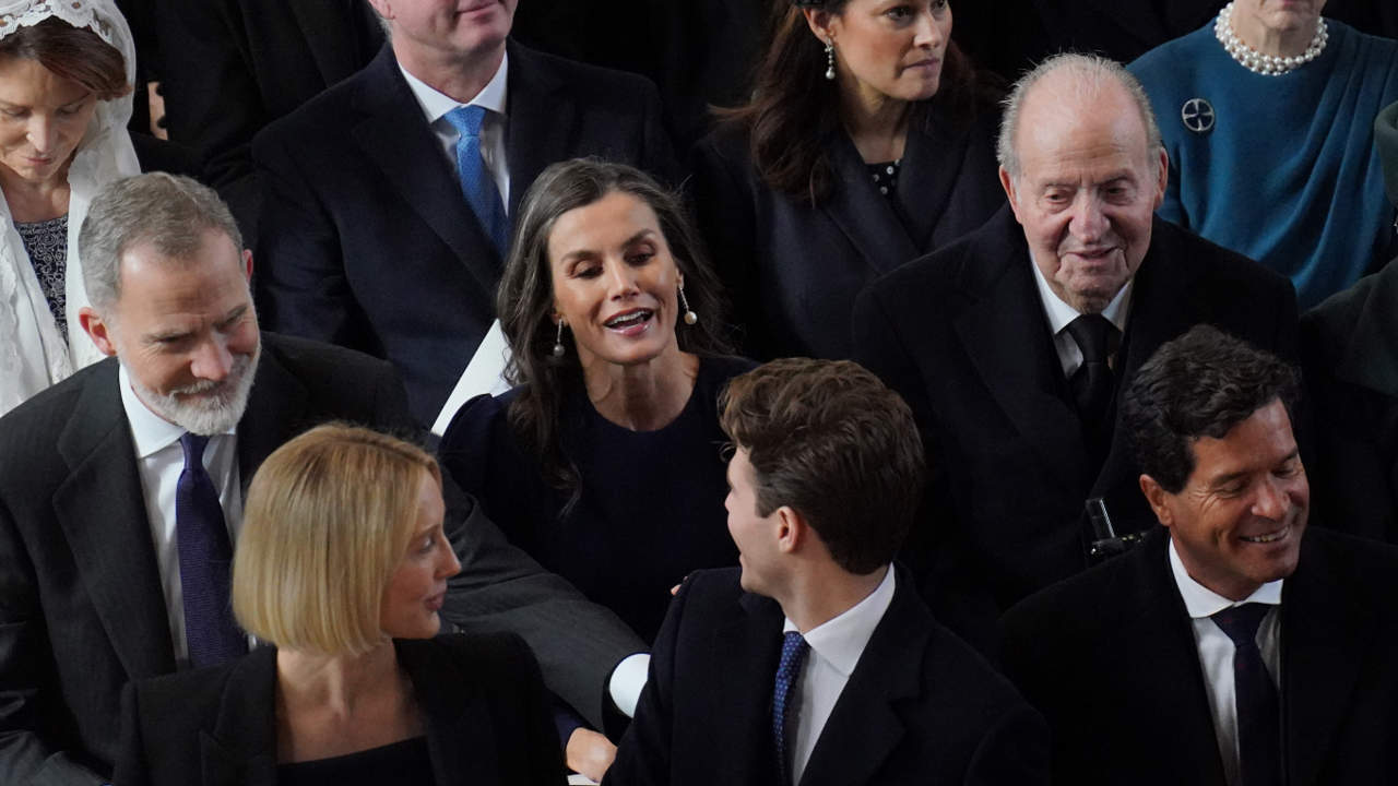
[[[1233,687],[1233,639],[1227,638],[1213,620],[1212,614],[1223,611],[1232,606],[1244,603],[1265,603],[1271,611],[1262,617],[1257,627],[1257,648],[1262,653],[1262,663],[1272,678],[1272,684],[1281,689],[1281,628],[1282,620],[1278,608],[1282,604],[1282,582],[1268,582],[1243,600],[1232,601],[1206,586],[1194,580],[1184,569],[1184,562],[1174,551],[1174,541],[1170,541],[1170,572],[1174,575],[1174,585],[1180,587],[1180,597],[1184,599],[1184,608],[1190,614],[1190,625],[1194,628],[1194,646],[1199,653],[1199,667],[1204,670],[1204,689],[1209,696],[1209,709],[1213,710],[1213,734],[1218,737],[1219,754],[1223,757],[1223,778],[1230,786],[1239,780],[1239,750],[1237,750],[1237,703]]]

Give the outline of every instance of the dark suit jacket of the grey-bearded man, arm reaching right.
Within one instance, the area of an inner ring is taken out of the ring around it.
[[[387,364],[263,333],[238,424],[242,483],[317,422],[417,434],[403,399]],[[471,631],[519,631],[551,687],[600,723],[607,676],[643,645],[510,547],[470,496],[452,484],[445,492],[464,571],[443,617]],[[173,671],[173,652],[117,365],[108,359],[0,418],[0,772],[99,783],[116,755],[122,685]]]

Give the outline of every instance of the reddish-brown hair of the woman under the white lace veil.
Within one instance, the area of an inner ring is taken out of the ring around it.
[[[120,98],[131,91],[126,81],[126,60],[102,36],[49,17],[17,28],[0,38],[0,60],[35,60],[55,76],[71,80],[98,101]]]

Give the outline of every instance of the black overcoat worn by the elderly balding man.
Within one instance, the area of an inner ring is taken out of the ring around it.
[[[1007,207],[870,285],[854,316],[856,358],[907,400],[927,448],[925,520],[909,559],[932,585],[938,620],[986,648],[1005,608],[1086,566],[1088,498],[1106,498],[1118,534],[1155,523],[1128,435],[1114,429],[1106,457],[1090,457],[1030,264]],[[1198,323],[1285,358],[1296,351],[1288,280],[1155,220],[1117,390]]]

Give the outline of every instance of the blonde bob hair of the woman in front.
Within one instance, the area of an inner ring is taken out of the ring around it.
[[[383,642],[379,606],[407,552],[426,473],[421,448],[345,424],[302,434],[247,488],[233,557],[233,615],[278,648],[362,655]]]

